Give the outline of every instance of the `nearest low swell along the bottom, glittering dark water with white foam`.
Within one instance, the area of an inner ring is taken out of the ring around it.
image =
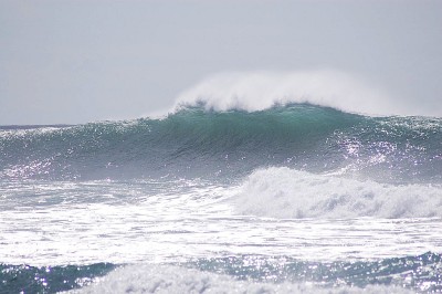
[[[408,293],[407,290],[430,293],[442,290],[442,258],[432,252],[378,261],[314,262],[288,256],[242,255],[162,265],[1,264],[0,271],[0,290],[4,293],[218,293],[239,288],[244,293],[330,293],[330,288],[345,293]],[[104,277],[98,283],[93,283],[101,276]]]

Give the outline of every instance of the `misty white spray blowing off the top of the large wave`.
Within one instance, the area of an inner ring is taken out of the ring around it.
[[[220,73],[182,92],[175,108],[263,111],[275,104],[311,103],[351,113],[410,114],[379,88],[334,70]]]

